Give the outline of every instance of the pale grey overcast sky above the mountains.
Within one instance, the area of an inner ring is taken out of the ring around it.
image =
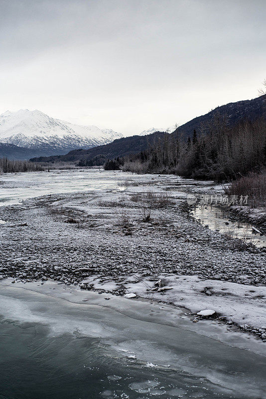
[[[257,96],[266,0],[0,0],[0,113],[133,134]]]

